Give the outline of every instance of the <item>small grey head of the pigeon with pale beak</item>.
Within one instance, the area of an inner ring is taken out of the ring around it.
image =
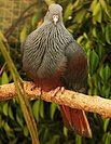
[[[63,8],[59,4],[51,4],[46,12],[44,21],[54,23],[63,22]]]

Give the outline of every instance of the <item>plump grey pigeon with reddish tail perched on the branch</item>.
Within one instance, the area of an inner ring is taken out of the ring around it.
[[[67,30],[63,6],[48,6],[44,21],[22,44],[23,68],[43,91],[65,88],[86,92],[88,64],[83,48]],[[59,106],[65,126],[82,136],[92,138],[92,130],[82,109]]]

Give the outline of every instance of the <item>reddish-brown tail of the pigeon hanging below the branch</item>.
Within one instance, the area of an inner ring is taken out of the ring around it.
[[[92,138],[92,131],[84,110],[60,105],[60,112],[64,123],[68,129],[74,130],[82,136]]]

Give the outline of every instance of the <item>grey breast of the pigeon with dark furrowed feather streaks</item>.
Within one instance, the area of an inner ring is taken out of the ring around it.
[[[33,79],[47,78],[66,68],[65,50],[73,42],[72,36],[61,25],[43,24],[32,31],[23,44],[23,67]]]

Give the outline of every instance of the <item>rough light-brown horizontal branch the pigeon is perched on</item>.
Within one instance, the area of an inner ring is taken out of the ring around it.
[[[74,91],[65,90],[64,93],[57,92],[56,96],[52,96],[54,90],[43,92],[39,96],[40,90],[33,88],[33,82],[24,81],[24,89],[30,100],[42,99],[46,102],[55,102],[59,105],[67,105],[72,108],[83,109],[85,112],[97,113],[106,118],[111,118],[111,100],[102,99],[94,95],[78,93]],[[0,86],[0,101],[6,101],[16,97],[17,93],[14,83]]]

